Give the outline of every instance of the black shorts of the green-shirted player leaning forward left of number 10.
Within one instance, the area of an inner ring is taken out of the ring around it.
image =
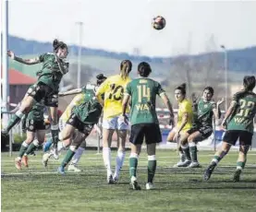
[[[91,130],[93,129],[94,124],[84,124],[82,123],[76,114],[72,113],[67,120],[67,124],[74,126],[79,130],[80,133],[88,136],[91,134]]]

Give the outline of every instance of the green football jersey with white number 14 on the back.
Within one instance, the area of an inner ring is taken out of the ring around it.
[[[158,124],[155,99],[156,95],[164,92],[161,85],[151,78],[140,77],[130,81],[125,92],[131,97],[130,123]]]

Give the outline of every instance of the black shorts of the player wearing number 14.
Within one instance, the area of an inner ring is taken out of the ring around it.
[[[141,145],[145,138],[146,144],[155,144],[162,141],[159,124],[134,124],[131,125],[129,142]]]

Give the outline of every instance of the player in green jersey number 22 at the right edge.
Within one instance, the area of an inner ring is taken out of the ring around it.
[[[255,88],[255,77],[246,76],[243,79],[244,88],[233,96],[233,100],[226,111],[222,125],[226,128],[222,147],[215,153],[211,164],[204,172],[204,180],[211,178],[214,168],[218,162],[228,153],[230,147],[236,145],[239,139],[239,155],[237,171],[233,181],[239,182],[240,174],[245,167],[247,153],[251,146],[253,135],[253,119],[256,114],[256,94],[252,91]]]

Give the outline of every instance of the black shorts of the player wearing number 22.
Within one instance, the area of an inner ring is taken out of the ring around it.
[[[227,130],[223,137],[223,141],[234,146],[236,145],[239,138],[239,145],[251,146],[252,135],[253,134],[247,131]]]

